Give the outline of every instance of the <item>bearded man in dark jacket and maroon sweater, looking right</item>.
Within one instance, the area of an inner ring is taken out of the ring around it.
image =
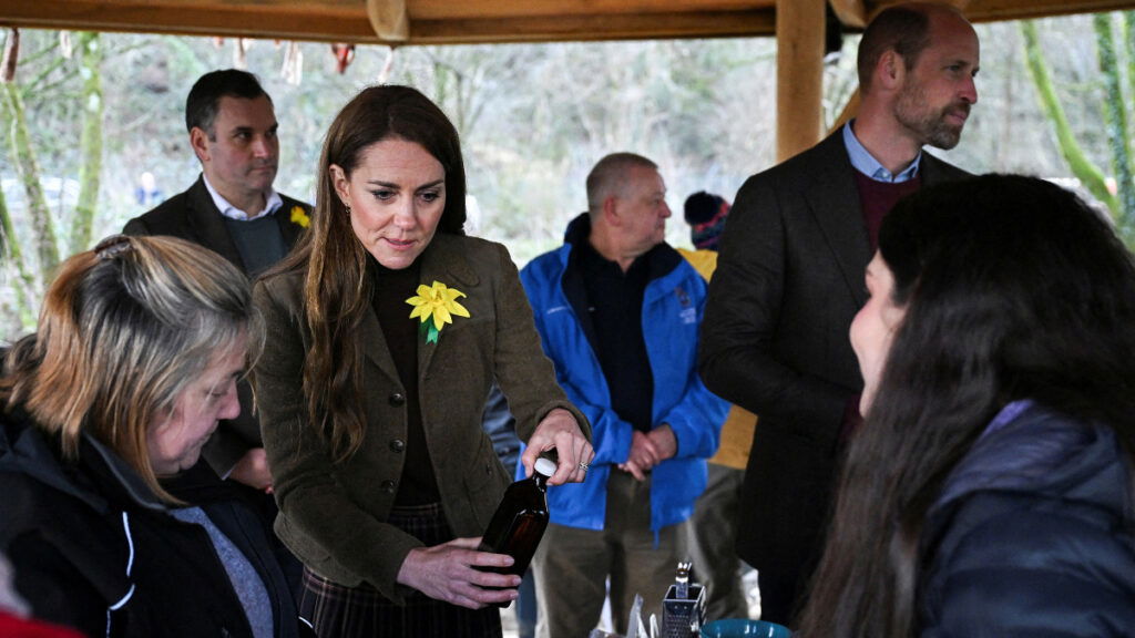
[[[955,9],[892,7],[864,33],[857,119],[750,177],[709,286],[699,370],[759,414],[738,528],[763,618],[802,605],[823,548],[835,471],[859,421],[848,342],[883,216],[922,185],[967,174],[924,153],[953,148],[977,101],[977,35]]]

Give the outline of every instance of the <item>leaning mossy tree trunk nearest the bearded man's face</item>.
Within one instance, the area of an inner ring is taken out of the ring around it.
[[[1056,89],[1052,86],[1049,67],[1044,61],[1044,53],[1036,37],[1036,24],[1033,20],[1023,20],[1020,33],[1025,36],[1025,60],[1028,65],[1028,73],[1033,76],[1033,84],[1036,86],[1041,107],[1049,116],[1049,120],[1052,121],[1057,142],[1060,144],[1060,154],[1068,162],[1073,175],[1084,183],[1088,192],[1105,203],[1112,216],[1118,219],[1120,215],[1119,200],[1108,191],[1103,171],[1084,154],[1071,132],[1063,107],[1060,106],[1060,98],[1057,96]]]

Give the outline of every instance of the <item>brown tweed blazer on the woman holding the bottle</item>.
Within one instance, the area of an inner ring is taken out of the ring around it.
[[[554,408],[575,414],[544,356],[528,297],[507,250],[491,242],[438,234],[421,257],[421,282],[455,287],[470,318],[455,318],[436,344],[418,350],[422,427],[442,506],[457,537],[480,536],[510,477],[481,428],[496,379],[527,440]],[[400,602],[409,591],[395,579],[406,553],[421,546],[386,522],[405,459],[406,410],[397,369],[378,319],[369,312],[363,342],[367,430],[351,459],[333,463],[311,427],[302,367],[311,338],[301,308],[302,275],[261,279],[255,303],[268,328],[255,373],[261,429],[276,479],[276,532],[300,560],[338,584],[369,582]],[[409,319],[411,308],[406,305]]]

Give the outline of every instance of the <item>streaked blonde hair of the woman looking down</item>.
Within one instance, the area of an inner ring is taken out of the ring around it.
[[[36,333],[7,355],[0,398],[57,435],[64,457],[87,433],[177,502],[150,464],[151,426],[245,337],[253,361],[263,321],[228,261],[183,240],[117,235],[60,267]]]

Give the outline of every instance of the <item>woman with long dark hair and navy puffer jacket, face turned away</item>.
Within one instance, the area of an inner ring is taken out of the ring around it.
[[[1068,191],[984,176],[886,217],[865,391],[804,637],[1135,631],[1135,265]]]

